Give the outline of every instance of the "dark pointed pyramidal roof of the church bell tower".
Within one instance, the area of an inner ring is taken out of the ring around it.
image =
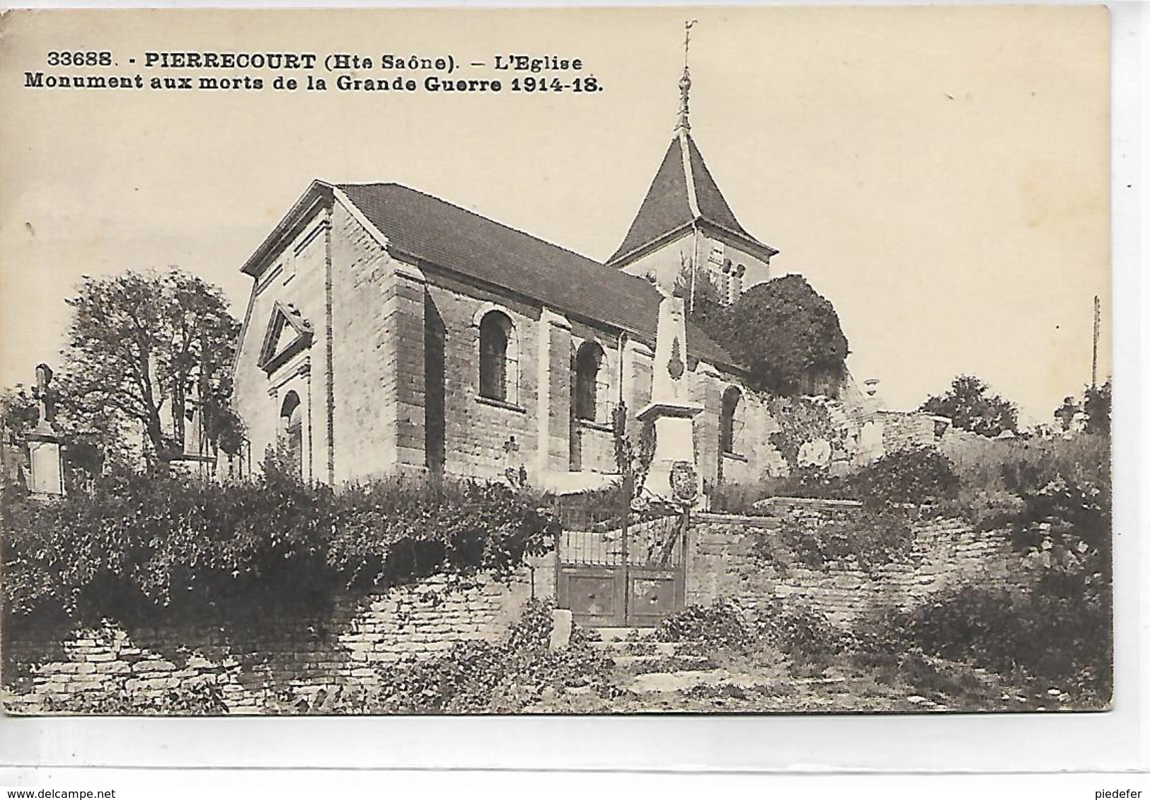
[[[683,158],[684,150],[687,159]],[[689,161],[690,178],[688,178],[684,161]],[[698,206],[698,215],[691,207],[690,184],[693,184],[695,198]],[[711,170],[703,161],[695,139],[690,134],[676,135],[670,146],[667,147],[666,155],[659,172],[656,173],[654,181],[647,189],[643,205],[639,206],[635,221],[631,222],[623,243],[614,256],[607,259],[611,266],[619,266],[626,260],[624,257],[635,253],[645,245],[658,241],[660,237],[680,228],[691,224],[696,220],[710,222],[713,226],[734,234],[737,238],[744,239],[747,244],[774,254],[775,249],[762,244],[743,229],[743,226],[735,219],[735,213],[727,205],[726,198],[719,191],[719,185],[711,176]]]

